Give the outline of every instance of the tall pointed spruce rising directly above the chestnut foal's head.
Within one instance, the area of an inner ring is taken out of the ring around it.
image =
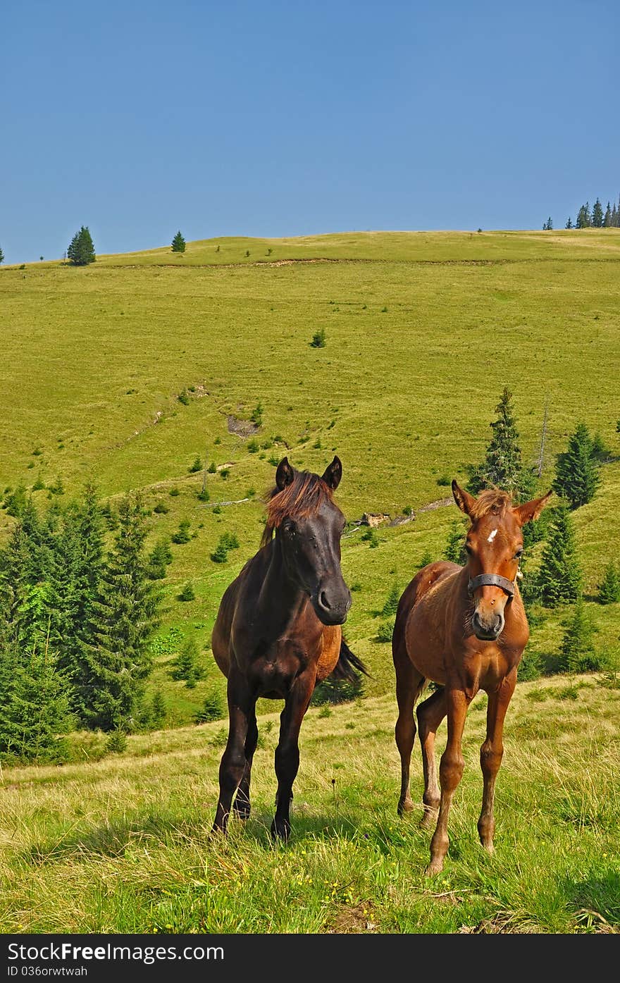
[[[512,392],[507,386],[495,407],[497,420],[490,424],[493,435],[486,448],[484,460],[470,469],[468,492],[479,494],[482,489],[495,486],[504,492],[517,492],[524,498],[534,492],[535,478],[524,467],[519,446],[519,432],[512,405]]]

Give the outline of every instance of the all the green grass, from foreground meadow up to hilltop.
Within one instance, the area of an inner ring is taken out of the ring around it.
[[[235,238],[85,268],[0,268],[0,492],[40,480],[32,495],[45,509],[58,479],[65,501],[94,479],[111,504],[142,492],[148,547],[183,520],[191,532],[172,545],[149,680],[166,729],[105,757],[101,735],[73,734],[71,764],[2,775],[2,931],[618,930],[613,680],[519,684],[494,857],[476,835],[479,697],[449,860],[429,884],[427,836],[415,818],[396,819],[393,668],[377,634],[393,584],[441,555],[459,515],[450,481],[465,483],[483,456],[508,385],[533,465],[547,407],[540,492],[578,423],[609,449],[574,521],[595,645],[618,658],[620,605],[592,598],[620,557],[619,291],[617,229]],[[314,348],[320,328],[326,343]],[[225,722],[194,720],[209,690],[224,692],[208,650],[217,606],[257,549],[277,462],[287,454],[321,473],[334,453],[350,522],[346,635],[371,672],[365,697],[330,716],[310,709],[286,848],[267,834],[279,706],[261,701],[254,817],[208,843]],[[376,548],[355,524],[365,512],[389,516]],[[389,524],[399,517],[411,521]],[[14,521],[0,512],[0,537]],[[240,546],[216,563],[224,532]],[[188,582],[196,599],[182,602]],[[540,611],[527,651],[552,659],[565,614]],[[190,638],[207,666],[195,689],[170,674]],[[418,747],[414,762],[421,796]]]

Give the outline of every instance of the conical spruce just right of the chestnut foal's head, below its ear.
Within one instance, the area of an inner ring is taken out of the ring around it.
[[[565,501],[555,509],[549,526],[537,584],[540,600],[546,607],[577,601],[580,595],[582,572],[577,558],[575,528]]]

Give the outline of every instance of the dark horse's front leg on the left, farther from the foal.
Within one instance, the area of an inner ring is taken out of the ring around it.
[[[226,833],[233,796],[246,769],[246,741],[255,702],[245,677],[231,669],[228,676],[228,741],[219,766],[219,800],[213,833]]]

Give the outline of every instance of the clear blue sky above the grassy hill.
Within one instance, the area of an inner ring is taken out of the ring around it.
[[[185,238],[540,228],[620,194],[620,5],[11,3],[5,262]]]

